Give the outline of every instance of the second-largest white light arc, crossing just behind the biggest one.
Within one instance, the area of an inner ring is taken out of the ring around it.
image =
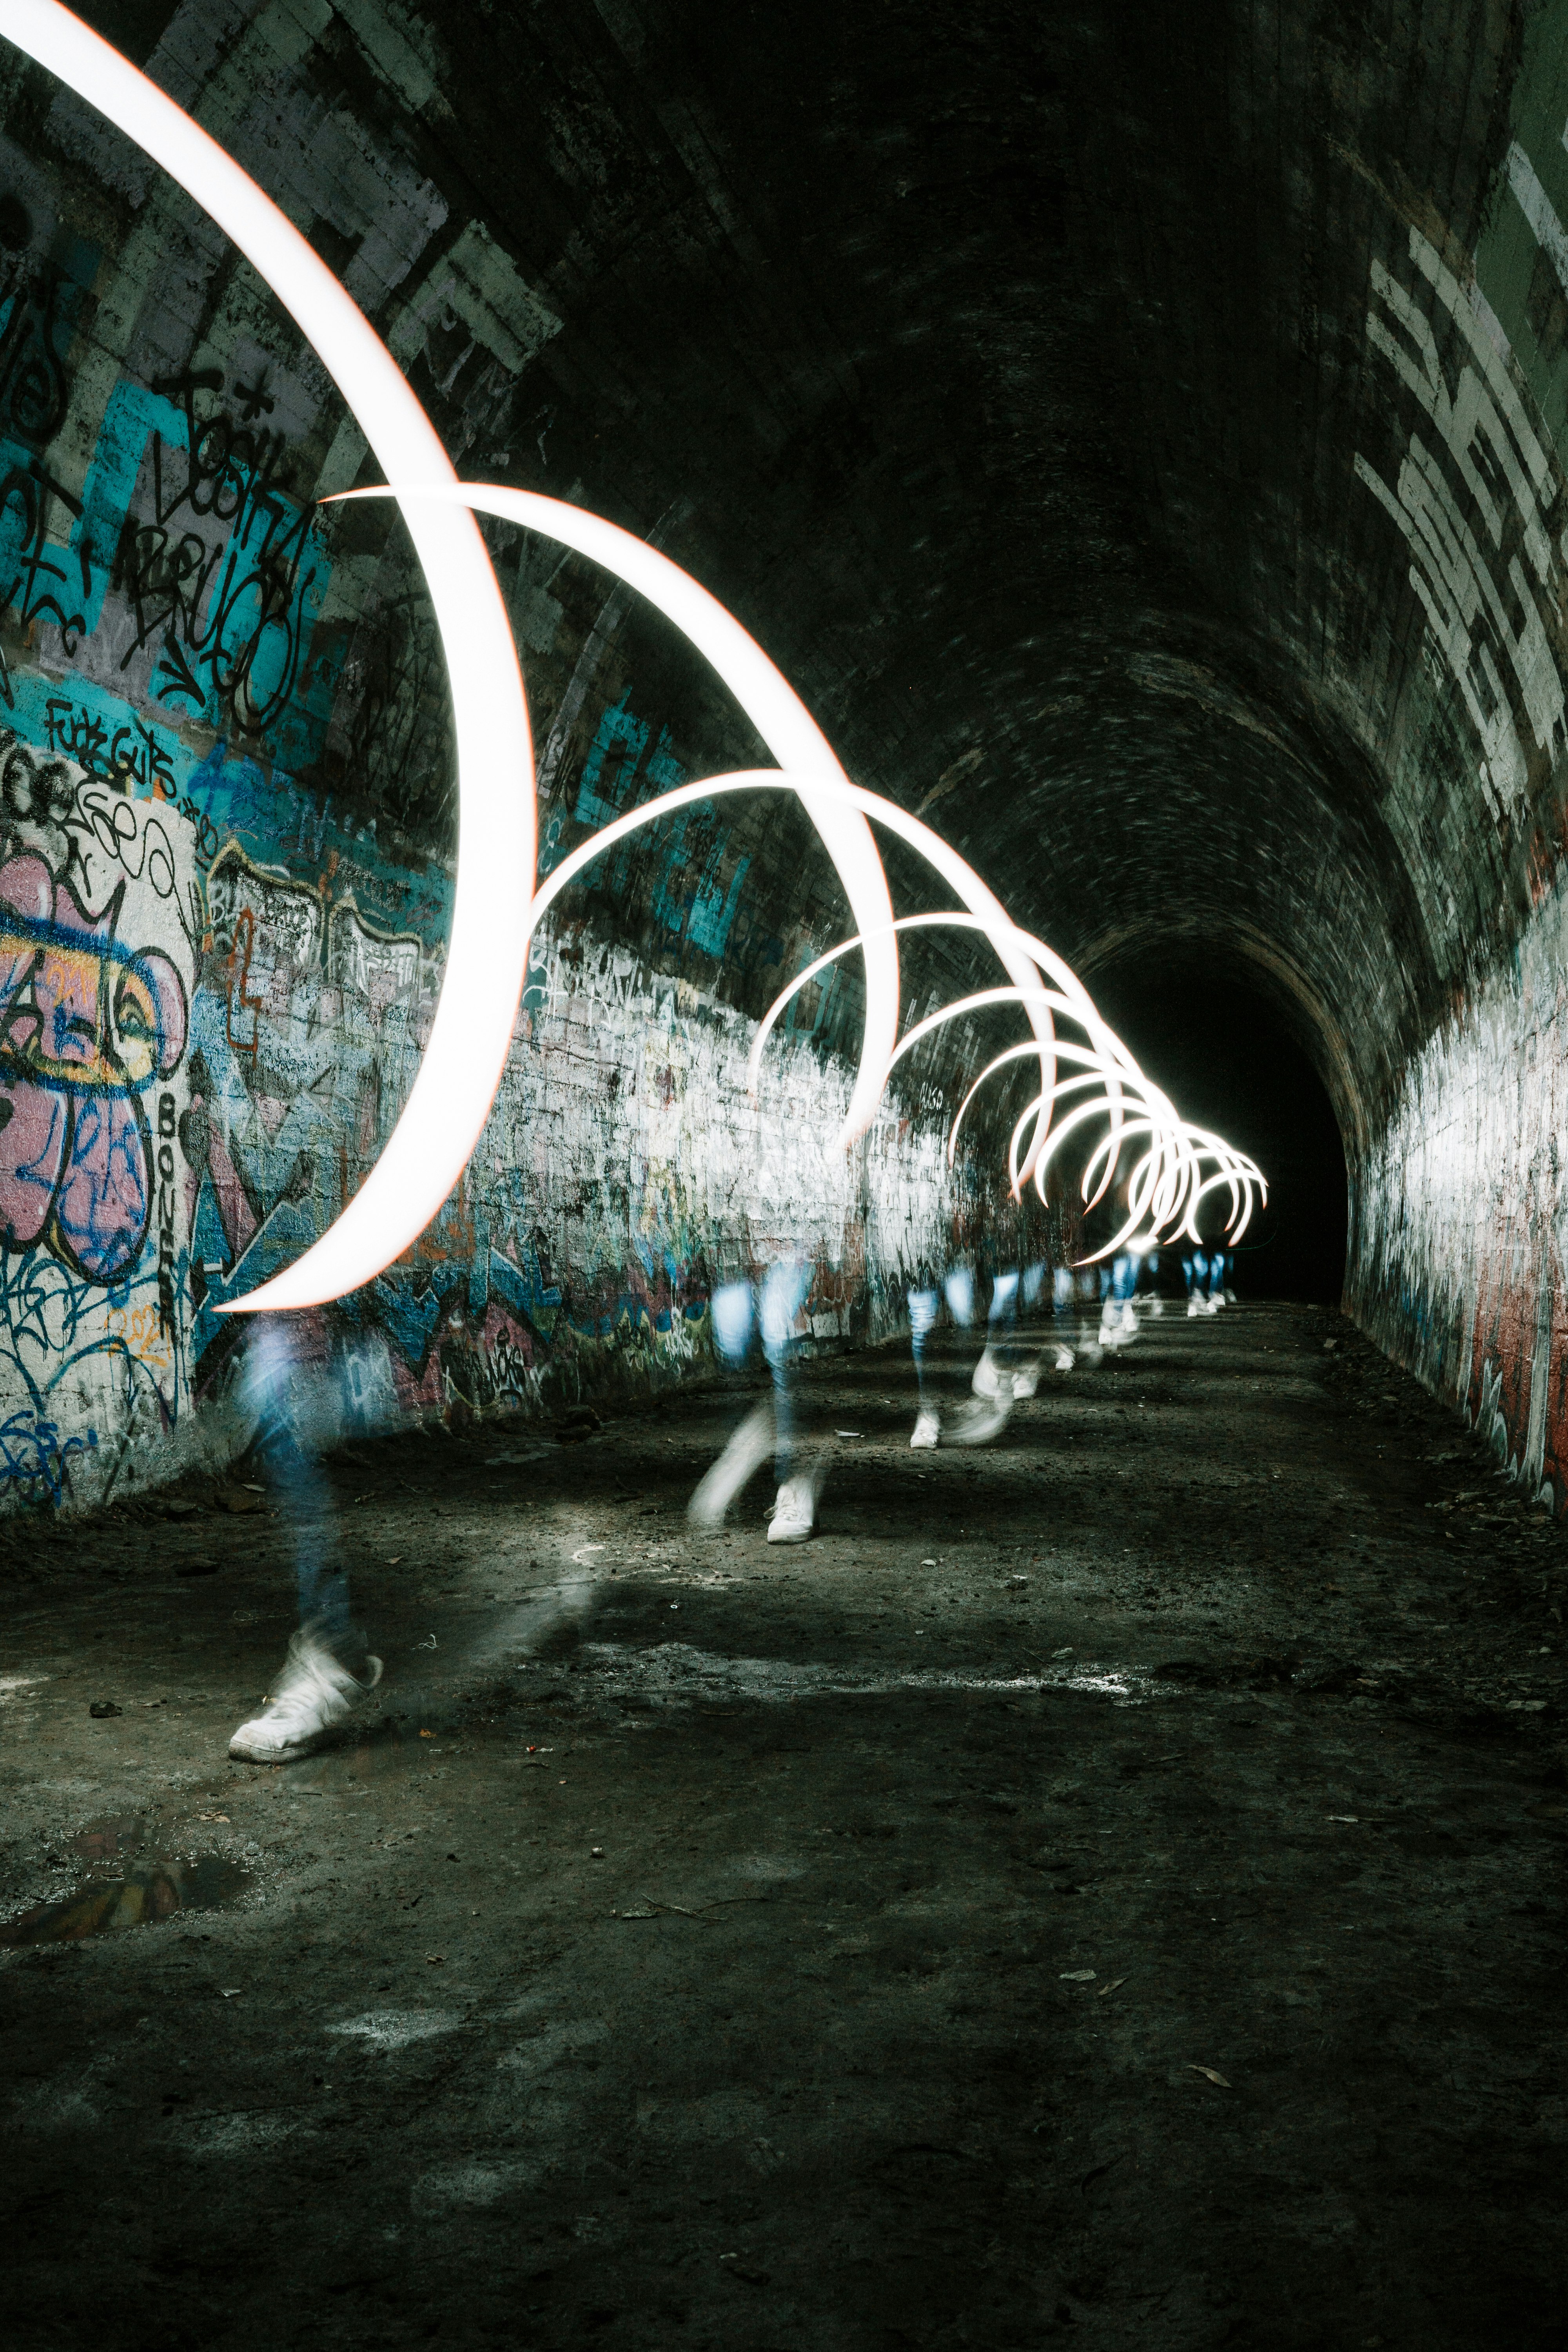
[[[827,736],[795,687],[708,588],[698,586],[689,572],[682,572],[658,548],[651,548],[646,539],[635,539],[632,532],[623,532],[616,522],[588,515],[581,506],[567,506],[564,499],[545,499],[534,489],[510,489],[503,482],[456,482],[449,468],[447,477],[435,482],[425,482],[407,468],[397,475],[388,466],[388,475],[390,489],[350,489],[343,496],[397,499],[404,513],[430,506],[437,510],[444,506],[468,506],[480,515],[496,515],[501,522],[520,522],[527,532],[555,539],[559,546],[574,548],[590,562],[614,572],[628,588],[644,595],[649,604],[656,604],[668,621],[675,621],[679,633],[717,670],[780,769],[802,771],[802,807],[839,870],[844,896],[867,941],[860,1068],[839,1136],[839,1143],[853,1143],[856,1136],[865,1134],[877,1112],[886,1082],[886,1056],[898,1035],[893,901],[889,898],[882,858],[877,856],[877,844],[863,811],[844,807],[811,781],[813,776],[823,776],[849,783],[849,776],[844,776]],[[515,910],[510,920],[515,927]]]

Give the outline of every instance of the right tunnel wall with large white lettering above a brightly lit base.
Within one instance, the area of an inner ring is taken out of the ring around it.
[[[1568,299],[1561,59],[1561,9],[1549,9],[1519,71],[1476,254],[1453,240],[1439,252],[1436,230],[1408,226],[1394,261],[1371,268],[1366,339],[1389,445],[1378,461],[1356,454],[1354,470],[1403,541],[1425,614],[1410,682],[1420,717],[1403,731],[1389,807],[1432,936],[1458,931],[1472,948],[1446,1018],[1356,1138],[1347,1258],[1359,1319],[1559,1510],[1568,894],[1554,811],[1568,755],[1568,372],[1549,313]],[[1481,856],[1462,847],[1455,762],[1469,762],[1488,809]]]

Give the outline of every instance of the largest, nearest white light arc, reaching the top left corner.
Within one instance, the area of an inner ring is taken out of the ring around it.
[[[397,362],[299,228],[174,99],[56,0],[5,0],[0,33],[96,106],[195,198],[315,346],[388,475],[451,482]],[[512,630],[461,501],[407,513],[451,680],[458,873],[430,1040],[386,1150],[324,1235],[221,1315],[341,1298],[430,1223],[480,1138],[527,976],[517,906],[534,889],[534,748]]]

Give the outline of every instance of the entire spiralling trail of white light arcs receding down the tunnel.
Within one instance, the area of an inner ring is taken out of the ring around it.
[[[529,936],[545,908],[616,840],[677,807],[733,790],[799,795],[858,922],[856,936],[797,974],[766,1014],[752,1049],[752,1087],[762,1049],[785,1004],[818,971],[858,948],[865,960],[865,1030],[844,1143],[865,1131],[891,1070],[924,1037],[969,1011],[1016,1004],[1030,1021],[1034,1044],[999,1056],[971,1087],[952,1127],[950,1160],[978,1084],[1018,1054],[1030,1054],[1039,1056],[1041,1094],[1016,1124],[1009,1145],[1016,1197],[1030,1178],[1044,1197],[1046,1162],[1063,1138],[1084,1122],[1105,1117],[1107,1136],[1084,1171],[1084,1197],[1091,1207],[1112,1183],[1124,1143],[1140,1134],[1152,1138],[1128,1181],[1133,1218],[1110,1244],[1112,1249],[1145,1216],[1159,1230],[1182,1209],[1187,1216],[1182,1230],[1197,1240],[1199,1202],[1220,1188],[1229,1190],[1232,1225],[1237,1232],[1244,1230],[1253,1185],[1262,1185],[1258,1169],[1218,1136],[1190,1129],[1175,1117],[1098,1016],[1077,974],[1044,941],[1009,920],[1001,901],[940,835],[905,816],[893,802],[849,783],[795,689],[717,597],[670,557],[599,515],[536,492],[458,482],[418,397],[357,306],[273,200],[200,125],[56,0],[5,0],[0,28],[169,172],[233,238],[310,339],[378,463],[393,477],[390,489],[348,496],[397,499],[425,569],[451,680],[458,739],[458,870],[444,985],[414,1089],[376,1167],[327,1232],[294,1268],[221,1312],[299,1308],[341,1296],[381,1272],[418,1237],[458,1181],[494,1103],[527,976]],[[708,659],[780,769],[710,776],[665,793],[592,835],[536,891],[534,757],[522,675],[505,607],[470,510],[548,534],[639,590]],[[969,915],[896,920],[867,818],[914,847]],[[936,924],[985,931],[1011,985],[964,997],[919,1021],[896,1042],[896,934]],[[1044,978],[1056,981],[1056,988],[1041,985]],[[1070,1018],[1091,1044],[1084,1049],[1060,1042],[1053,1016]],[[1081,1063],[1086,1075],[1058,1084],[1058,1058]],[[1088,1084],[1100,1087],[1095,1101],[1077,1105],[1053,1129],[1058,1101]],[[1128,1120],[1128,1105],[1147,1108],[1150,1115]],[[1030,1122],[1034,1131],[1020,1162],[1023,1131]],[[1206,1181],[1201,1162],[1218,1162]],[[1098,1188],[1095,1171],[1103,1171]]]

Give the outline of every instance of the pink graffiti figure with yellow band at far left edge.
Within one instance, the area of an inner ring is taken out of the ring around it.
[[[141,1094],[186,1051],[186,990],[113,936],[40,856],[0,866],[0,1242],[40,1240],[89,1282],[139,1258],[153,1209]]]

